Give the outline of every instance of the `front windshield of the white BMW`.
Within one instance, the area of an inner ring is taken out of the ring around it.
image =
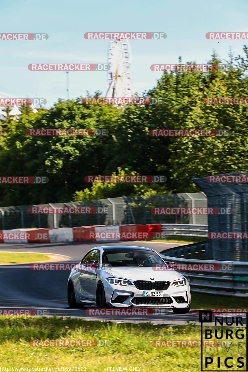
[[[164,265],[156,252],[141,249],[116,249],[103,252],[103,266],[146,266]]]

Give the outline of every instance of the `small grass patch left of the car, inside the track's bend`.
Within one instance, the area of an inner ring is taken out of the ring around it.
[[[0,252],[0,265],[41,261],[51,261],[51,256],[43,253]]]

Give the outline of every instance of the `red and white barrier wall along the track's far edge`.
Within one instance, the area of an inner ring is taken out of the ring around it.
[[[161,224],[96,225],[79,227],[0,230],[0,243],[115,242],[151,239]]]

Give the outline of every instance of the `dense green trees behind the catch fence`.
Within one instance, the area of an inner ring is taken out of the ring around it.
[[[165,72],[148,96],[159,105],[116,107],[59,100],[48,110],[23,108],[2,125],[0,174],[47,176],[46,185],[1,185],[0,205],[192,192],[194,175],[248,169],[246,105],[206,105],[207,97],[248,96],[248,48],[229,53],[229,71]],[[209,63],[219,64],[214,53]],[[95,96],[100,96],[96,92]],[[107,136],[31,137],[31,128],[106,128]],[[228,137],[150,137],[149,129],[228,129]],[[165,175],[164,184],[95,183],[87,175]]]

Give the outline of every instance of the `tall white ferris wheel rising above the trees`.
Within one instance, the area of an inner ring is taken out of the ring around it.
[[[108,71],[109,87],[106,97],[132,97],[134,96],[131,83],[132,54],[128,40],[115,39],[110,41],[107,57],[110,64]]]

